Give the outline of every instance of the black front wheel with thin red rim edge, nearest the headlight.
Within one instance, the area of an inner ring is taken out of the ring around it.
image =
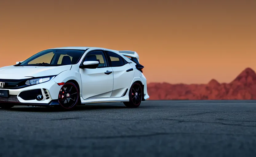
[[[59,91],[58,102],[63,110],[72,110],[81,102],[79,88],[73,82],[66,82]]]

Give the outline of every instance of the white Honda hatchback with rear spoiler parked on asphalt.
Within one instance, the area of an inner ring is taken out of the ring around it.
[[[94,47],[52,48],[0,68],[0,107],[123,102],[136,108],[149,98],[139,56]]]

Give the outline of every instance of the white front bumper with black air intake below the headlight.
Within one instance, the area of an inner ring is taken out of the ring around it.
[[[22,104],[38,104],[38,105],[57,105],[58,93],[61,89],[54,80],[49,82],[40,83],[33,86],[28,86],[21,89],[3,89],[9,90],[9,97],[0,97],[1,103],[17,103]],[[36,95],[42,94],[42,100],[36,100]]]

